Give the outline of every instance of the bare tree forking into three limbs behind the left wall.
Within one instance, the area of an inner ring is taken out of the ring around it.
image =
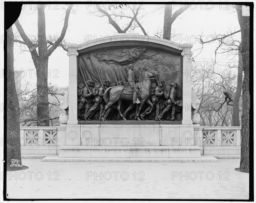
[[[29,52],[32,56],[33,63],[35,65],[37,73],[37,125],[49,126],[49,102],[48,102],[48,59],[52,52],[58,47],[62,46],[65,50],[65,46],[61,44],[67,31],[68,20],[70,11],[73,4],[70,4],[67,8],[64,25],[59,38],[53,43],[46,38],[46,24],[45,24],[45,12],[44,9],[47,5],[38,5],[38,41],[32,43],[23,30],[19,20],[15,22],[18,32],[23,41],[19,41],[21,44],[25,44],[29,48]],[[49,45],[48,45],[49,44]],[[37,51],[38,49],[38,51]]]

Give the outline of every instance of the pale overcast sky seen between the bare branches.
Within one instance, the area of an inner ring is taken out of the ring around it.
[[[46,33],[47,36],[60,35],[63,26],[63,19],[65,10],[64,5],[48,5],[45,9],[46,15]],[[103,9],[108,10],[108,5],[101,5]],[[180,5],[175,5],[175,9],[178,9]],[[161,5],[148,4],[143,5],[141,13],[146,14],[142,19],[142,25],[149,36],[154,36],[157,29],[160,31],[163,29],[163,9],[157,8]],[[67,8],[67,6],[65,6]],[[113,7],[112,7],[113,8]],[[130,14],[128,9],[123,7],[125,12]],[[90,39],[101,38],[106,35],[117,35],[118,33],[108,23],[107,17],[96,17],[90,12],[95,12],[96,6],[91,5],[74,5],[73,9],[75,13],[70,14],[69,25],[65,36],[65,41],[68,43],[81,44],[84,41]],[[108,10],[109,11],[109,10]],[[33,38],[37,36],[37,11],[35,5],[24,5],[19,17],[20,24],[23,26],[24,31],[29,37]],[[124,21],[124,20],[123,20]],[[119,26],[123,28],[124,22],[118,22]],[[212,61],[214,58],[215,48],[218,46],[218,42],[204,45],[204,49],[200,51],[201,44],[196,42],[195,37],[199,38],[199,35],[204,35],[203,40],[210,40],[209,35],[212,34],[227,34],[236,30],[239,30],[239,23],[237,20],[236,12],[232,5],[192,5],[183,14],[175,20],[172,25],[172,33],[179,34],[173,40],[176,43],[192,43],[193,56],[196,56],[195,61],[200,63],[203,61]],[[17,29],[13,26],[14,33],[17,37]],[[135,33],[143,35],[141,29],[137,28]],[[241,33],[237,33],[235,38],[240,40]],[[24,70],[26,75],[22,75],[23,84],[29,81],[31,85],[36,84],[35,80],[35,67],[32,63],[31,55],[27,47],[20,44],[15,44],[15,70]],[[224,68],[230,63],[236,63],[238,57],[233,58],[226,54],[218,54],[217,61],[223,65]],[[62,49],[56,49],[49,58],[49,82],[57,84],[58,86],[68,86],[68,62],[69,58],[67,53]]]

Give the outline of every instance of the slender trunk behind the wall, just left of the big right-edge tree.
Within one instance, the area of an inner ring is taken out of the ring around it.
[[[233,98],[233,126],[240,126],[239,122],[239,99],[241,95],[241,90],[243,86],[243,60],[240,50],[238,51],[239,64],[237,67],[237,88],[236,94]]]

